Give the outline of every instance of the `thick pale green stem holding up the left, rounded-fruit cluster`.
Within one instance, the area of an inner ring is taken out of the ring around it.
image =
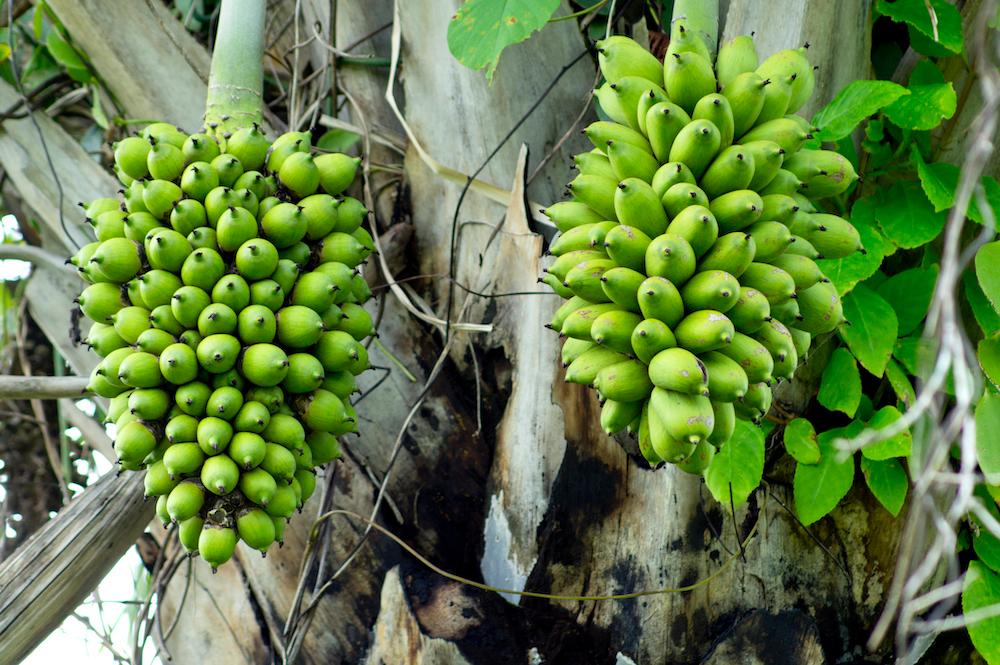
[[[266,9],[266,0],[222,0],[205,103],[211,131],[261,124]]]

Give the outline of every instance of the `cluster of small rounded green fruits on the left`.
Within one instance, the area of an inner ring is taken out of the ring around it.
[[[145,469],[164,524],[213,570],[266,552],[356,431],[374,251],[342,193],[359,160],[308,133],[188,136],[156,123],[114,146],[121,201],[84,206],[97,241],[71,259],[103,357],[122,469]]]

